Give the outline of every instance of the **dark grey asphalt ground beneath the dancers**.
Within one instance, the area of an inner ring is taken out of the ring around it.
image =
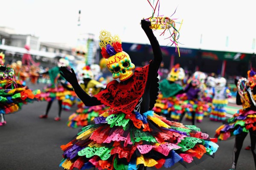
[[[29,88],[42,89],[44,84],[32,85]],[[76,110],[76,105],[71,111],[63,111],[61,121],[55,122],[54,117],[58,112],[57,101],[53,102],[48,119],[39,119],[43,114],[47,102],[34,102],[23,105],[22,110],[6,115],[7,124],[0,127],[0,170],[61,170],[59,167],[62,159],[60,146],[70,142],[79,129],[67,127],[68,116]],[[185,120],[183,124],[190,125]],[[211,122],[204,118],[197,126],[201,131],[207,132],[210,137],[215,134],[215,129],[221,122]],[[247,135],[240,153],[237,170],[255,170],[251,151],[244,150],[250,144]],[[232,163],[234,138],[227,141],[218,141],[219,148],[215,157],[207,156],[200,164],[189,167],[188,170],[228,170]],[[155,168],[148,168],[152,170]],[[170,168],[169,168],[170,169]],[[186,170],[182,165],[171,168],[173,170]],[[166,170],[166,168],[161,168]]]

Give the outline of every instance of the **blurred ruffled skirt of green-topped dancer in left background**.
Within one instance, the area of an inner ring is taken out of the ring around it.
[[[55,85],[54,88],[52,88],[52,84],[44,87],[44,90],[40,95],[40,100],[49,102],[55,99],[62,100],[62,108],[68,111],[76,99],[76,93],[67,90],[61,84]]]

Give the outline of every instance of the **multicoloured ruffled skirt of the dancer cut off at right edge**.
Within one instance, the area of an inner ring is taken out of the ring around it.
[[[240,109],[227,123],[221,125],[215,136],[220,140],[227,140],[229,137],[238,135],[241,132],[249,132],[249,129],[256,130],[256,111]]]

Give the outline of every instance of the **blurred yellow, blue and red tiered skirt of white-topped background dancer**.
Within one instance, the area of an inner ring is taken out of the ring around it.
[[[228,104],[227,99],[224,99],[224,100],[213,99],[212,105],[214,106],[214,109],[210,113],[209,119],[212,121],[218,121],[218,122],[222,122],[226,120],[227,111],[225,107],[227,106],[227,104]]]

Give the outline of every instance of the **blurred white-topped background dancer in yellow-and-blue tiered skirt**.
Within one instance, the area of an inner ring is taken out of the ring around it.
[[[212,105],[214,109],[210,113],[209,119],[212,121],[222,122],[226,120],[226,106],[230,98],[230,90],[226,87],[227,80],[224,77],[215,79],[214,97]]]

